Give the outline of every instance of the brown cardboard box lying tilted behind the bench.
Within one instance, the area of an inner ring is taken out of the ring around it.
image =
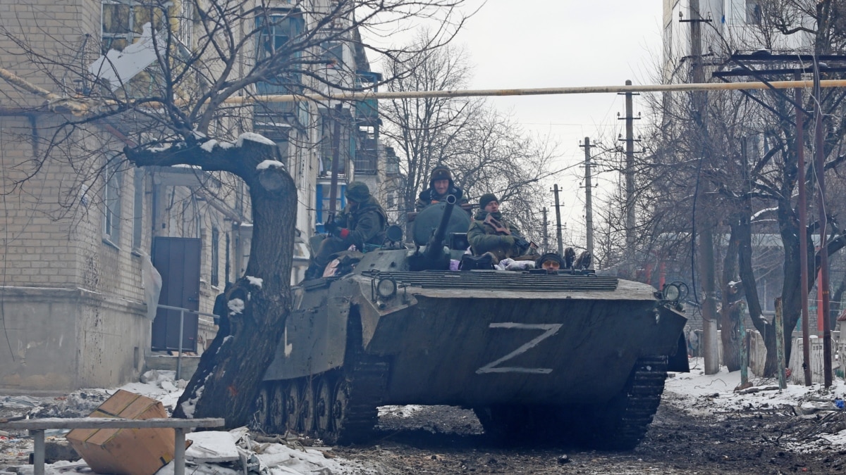
[[[118,390],[91,418],[167,418],[162,403]],[[173,429],[74,429],[65,436],[91,470],[115,475],[153,475],[173,460]]]

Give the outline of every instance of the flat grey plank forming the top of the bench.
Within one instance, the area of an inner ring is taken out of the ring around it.
[[[124,418],[43,418],[0,423],[0,429],[191,429],[195,427],[222,427],[223,418],[202,419],[124,419]]]

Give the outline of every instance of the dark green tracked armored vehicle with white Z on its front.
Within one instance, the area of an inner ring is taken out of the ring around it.
[[[294,288],[258,422],[345,443],[368,438],[379,406],[452,405],[494,436],[637,445],[667,370],[687,370],[679,287],[591,270],[449,270],[470,224],[453,206],[420,213],[415,248],[394,235],[339,254],[341,275]]]

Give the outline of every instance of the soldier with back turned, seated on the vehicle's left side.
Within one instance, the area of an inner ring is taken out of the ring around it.
[[[347,197],[347,205],[334,220],[327,221],[330,236],[312,254],[309,268],[305,270],[306,280],[322,276],[332,254],[352,245],[364,251],[365,244],[382,245],[385,242],[387,214],[371,196],[370,188],[365,183],[352,182],[343,194]]]

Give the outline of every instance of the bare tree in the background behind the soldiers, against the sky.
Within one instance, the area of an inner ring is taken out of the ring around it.
[[[429,42],[429,34],[422,34],[412,49]],[[412,59],[397,57],[388,69],[397,76],[388,89],[399,91],[461,89],[471,73],[457,46]],[[527,134],[512,117],[480,99],[394,99],[382,107],[382,114],[391,124],[384,134],[401,155],[406,210],[414,209],[417,195],[429,186],[431,169],[447,165],[465,197],[495,193],[525,234],[541,235],[538,215],[546,180],[560,172],[554,166],[557,144]]]

